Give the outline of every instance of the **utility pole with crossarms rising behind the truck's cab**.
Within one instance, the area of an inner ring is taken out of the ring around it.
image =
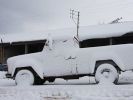
[[[79,39],[79,17],[80,17],[80,12],[79,11],[75,11],[73,9],[70,9],[70,18],[73,20],[73,22],[77,26],[76,36],[77,36],[78,39]]]

